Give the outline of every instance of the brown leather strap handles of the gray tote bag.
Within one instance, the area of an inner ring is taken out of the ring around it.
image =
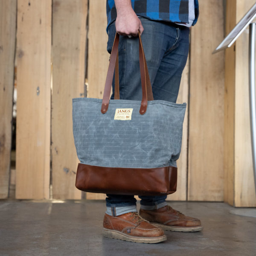
[[[143,115],[147,110],[148,100],[151,101],[151,100],[154,100],[154,98],[153,98],[152,87],[151,87],[151,83],[148,75],[148,67],[145,59],[140,32],[138,32],[138,34],[139,34],[140,78],[141,78],[141,87],[142,87],[142,101],[140,105],[140,114]],[[118,44],[119,44],[119,34],[116,33],[111,55],[110,55],[108,73],[106,77],[105,88],[104,88],[103,99],[102,99],[101,112],[103,114],[108,111],[111,85],[112,85],[112,79],[113,79],[113,74],[115,69],[116,69],[116,72],[115,72],[115,98],[114,99],[119,99]]]

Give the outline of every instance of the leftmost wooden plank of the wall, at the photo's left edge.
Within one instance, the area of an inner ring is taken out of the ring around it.
[[[0,0],[0,198],[9,191],[16,0]]]

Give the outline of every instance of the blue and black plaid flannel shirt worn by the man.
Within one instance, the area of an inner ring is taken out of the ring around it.
[[[198,20],[198,0],[195,1],[195,20]],[[131,0],[134,12],[150,20],[165,20],[180,23],[189,23],[189,0]],[[116,20],[114,0],[107,0],[108,25]],[[108,27],[107,27],[108,31]]]

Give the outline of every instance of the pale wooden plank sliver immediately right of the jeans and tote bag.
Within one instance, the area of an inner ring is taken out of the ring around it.
[[[167,200],[186,201],[187,199],[187,152],[188,152],[188,113],[189,113],[189,57],[182,73],[180,91],[177,103],[187,102],[186,114],[183,122],[183,135],[180,158],[177,160],[178,178],[177,191],[168,195]]]

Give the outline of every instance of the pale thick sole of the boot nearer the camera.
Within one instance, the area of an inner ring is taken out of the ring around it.
[[[135,243],[145,243],[145,244],[156,244],[163,241],[166,241],[166,235],[157,236],[157,237],[136,237],[136,236],[129,236],[117,230],[109,230],[103,228],[103,236],[113,239],[120,239],[124,241],[130,241]]]

